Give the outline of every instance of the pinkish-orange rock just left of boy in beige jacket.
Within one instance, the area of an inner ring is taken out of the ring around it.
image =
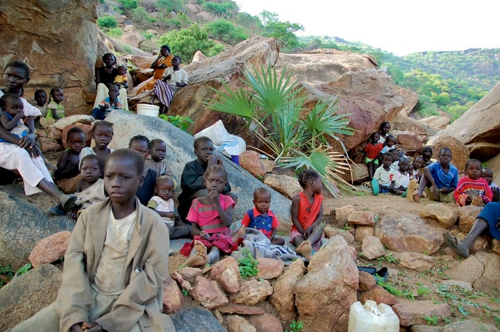
[[[33,247],[28,260],[33,267],[38,267],[63,258],[69,244],[69,238],[71,238],[69,231],[60,231],[40,240]]]

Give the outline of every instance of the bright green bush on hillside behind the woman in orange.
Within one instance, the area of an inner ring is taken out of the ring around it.
[[[190,63],[198,50],[206,56],[215,56],[224,49],[222,44],[208,39],[208,33],[197,23],[189,28],[166,33],[160,37],[159,44],[168,44],[172,53],[181,56],[183,63]]]

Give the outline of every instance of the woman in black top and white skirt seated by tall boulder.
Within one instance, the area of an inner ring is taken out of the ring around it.
[[[116,57],[113,53],[104,54],[102,60],[104,64],[103,67],[97,67],[95,69],[97,95],[94,101],[94,108],[98,108],[99,103],[108,97],[108,88],[115,82],[115,77],[118,75],[118,69],[115,68]],[[120,88],[118,99],[122,103],[124,110],[128,110],[126,95],[126,89]]]

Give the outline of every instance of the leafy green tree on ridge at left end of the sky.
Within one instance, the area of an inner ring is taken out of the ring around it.
[[[278,19],[278,14],[270,13],[267,10],[260,13],[260,18],[263,22],[263,35],[265,37],[276,38],[285,50],[292,50],[299,46],[299,40],[295,32],[303,30],[301,24],[288,21],[281,22]]]

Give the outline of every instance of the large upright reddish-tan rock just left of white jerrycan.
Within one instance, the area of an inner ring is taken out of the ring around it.
[[[325,326],[347,330],[349,309],[358,289],[355,259],[356,250],[340,236],[331,238],[310,259],[308,273],[294,291],[297,320],[303,322],[304,331],[324,331]]]

